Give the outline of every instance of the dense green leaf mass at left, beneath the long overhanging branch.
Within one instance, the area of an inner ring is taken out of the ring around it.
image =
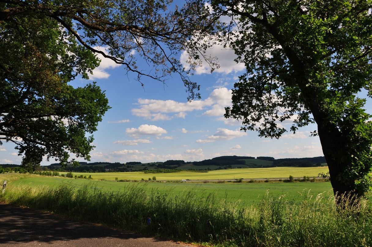
[[[11,7],[1,4],[0,11]],[[44,155],[62,163],[69,152],[89,159],[93,138],[86,133],[96,130],[108,100],[95,84],[73,88],[68,82],[77,74],[87,78],[97,58],[42,13],[3,19],[0,33],[0,139],[17,145],[31,172]]]

